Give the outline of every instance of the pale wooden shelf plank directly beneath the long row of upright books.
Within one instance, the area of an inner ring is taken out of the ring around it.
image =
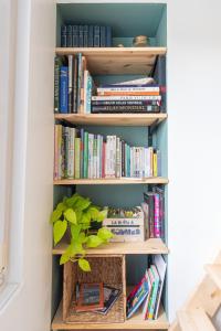
[[[168,179],[152,178],[110,178],[110,179],[63,179],[54,180],[54,185],[124,185],[124,184],[168,184]]]

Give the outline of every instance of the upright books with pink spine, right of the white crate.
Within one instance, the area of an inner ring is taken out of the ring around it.
[[[151,191],[144,193],[141,203],[145,213],[146,238],[165,239],[165,191],[152,186]]]

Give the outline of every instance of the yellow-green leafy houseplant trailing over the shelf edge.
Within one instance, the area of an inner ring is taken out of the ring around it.
[[[71,197],[64,197],[52,212],[50,222],[53,224],[53,237],[56,245],[70,233],[70,244],[60,258],[60,265],[69,260],[77,261],[84,271],[91,271],[86,260],[85,248],[97,247],[108,243],[113,234],[105,227],[101,227],[95,234],[90,232],[92,222],[102,222],[107,215],[106,210],[101,210],[92,204],[88,197],[75,193]]]

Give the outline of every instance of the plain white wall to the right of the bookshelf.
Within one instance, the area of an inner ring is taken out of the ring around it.
[[[221,249],[221,2],[168,1],[170,317]]]

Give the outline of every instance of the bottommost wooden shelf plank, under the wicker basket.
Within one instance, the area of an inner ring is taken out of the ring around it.
[[[62,303],[56,311],[54,320],[52,322],[52,330],[168,330],[169,322],[166,313],[160,307],[159,318],[155,321],[144,320],[141,311],[138,311],[133,318],[126,320],[123,323],[65,323],[62,320]]]

